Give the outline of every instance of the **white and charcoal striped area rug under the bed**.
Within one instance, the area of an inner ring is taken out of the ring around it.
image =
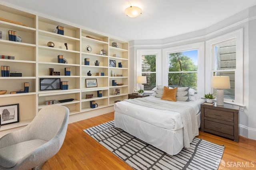
[[[114,121],[84,129],[135,170],[217,170],[224,146],[194,138],[190,148],[169,155],[114,127]]]

